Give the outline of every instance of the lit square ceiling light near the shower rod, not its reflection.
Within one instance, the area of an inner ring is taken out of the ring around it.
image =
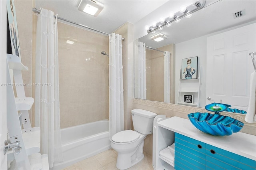
[[[78,10],[90,14],[92,16],[98,16],[103,10],[104,4],[98,2],[97,0],[81,0],[78,5]]]

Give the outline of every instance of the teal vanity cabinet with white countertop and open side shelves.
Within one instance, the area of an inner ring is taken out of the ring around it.
[[[256,170],[254,135],[237,132],[230,136],[212,136],[195,128],[188,119],[180,117],[172,117],[156,125],[162,131],[174,132],[175,156],[172,166],[176,170]],[[158,135],[158,138],[161,136]],[[156,155],[159,156],[159,153],[156,152]],[[155,170],[169,169],[162,168],[162,160],[156,159],[156,162]]]

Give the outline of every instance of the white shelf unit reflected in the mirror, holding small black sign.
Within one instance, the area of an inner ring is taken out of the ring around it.
[[[178,86],[178,98],[177,103],[181,105],[189,105],[199,107],[199,96],[200,96],[200,77],[201,77],[201,66],[199,68],[199,77],[197,79],[180,79]],[[185,103],[183,95],[193,95],[193,103]],[[196,101],[196,102],[194,102]]]

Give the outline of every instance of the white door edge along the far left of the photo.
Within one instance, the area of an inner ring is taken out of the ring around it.
[[[6,1],[0,0],[0,85],[6,83]],[[4,155],[6,140],[6,87],[0,86],[0,169],[7,169],[7,156]]]

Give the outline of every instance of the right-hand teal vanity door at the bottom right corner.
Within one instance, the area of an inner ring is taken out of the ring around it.
[[[256,169],[255,160],[245,158],[209,144],[206,144],[206,160],[207,166],[209,163],[214,164],[214,162],[218,162],[217,166],[221,166],[225,169]]]

